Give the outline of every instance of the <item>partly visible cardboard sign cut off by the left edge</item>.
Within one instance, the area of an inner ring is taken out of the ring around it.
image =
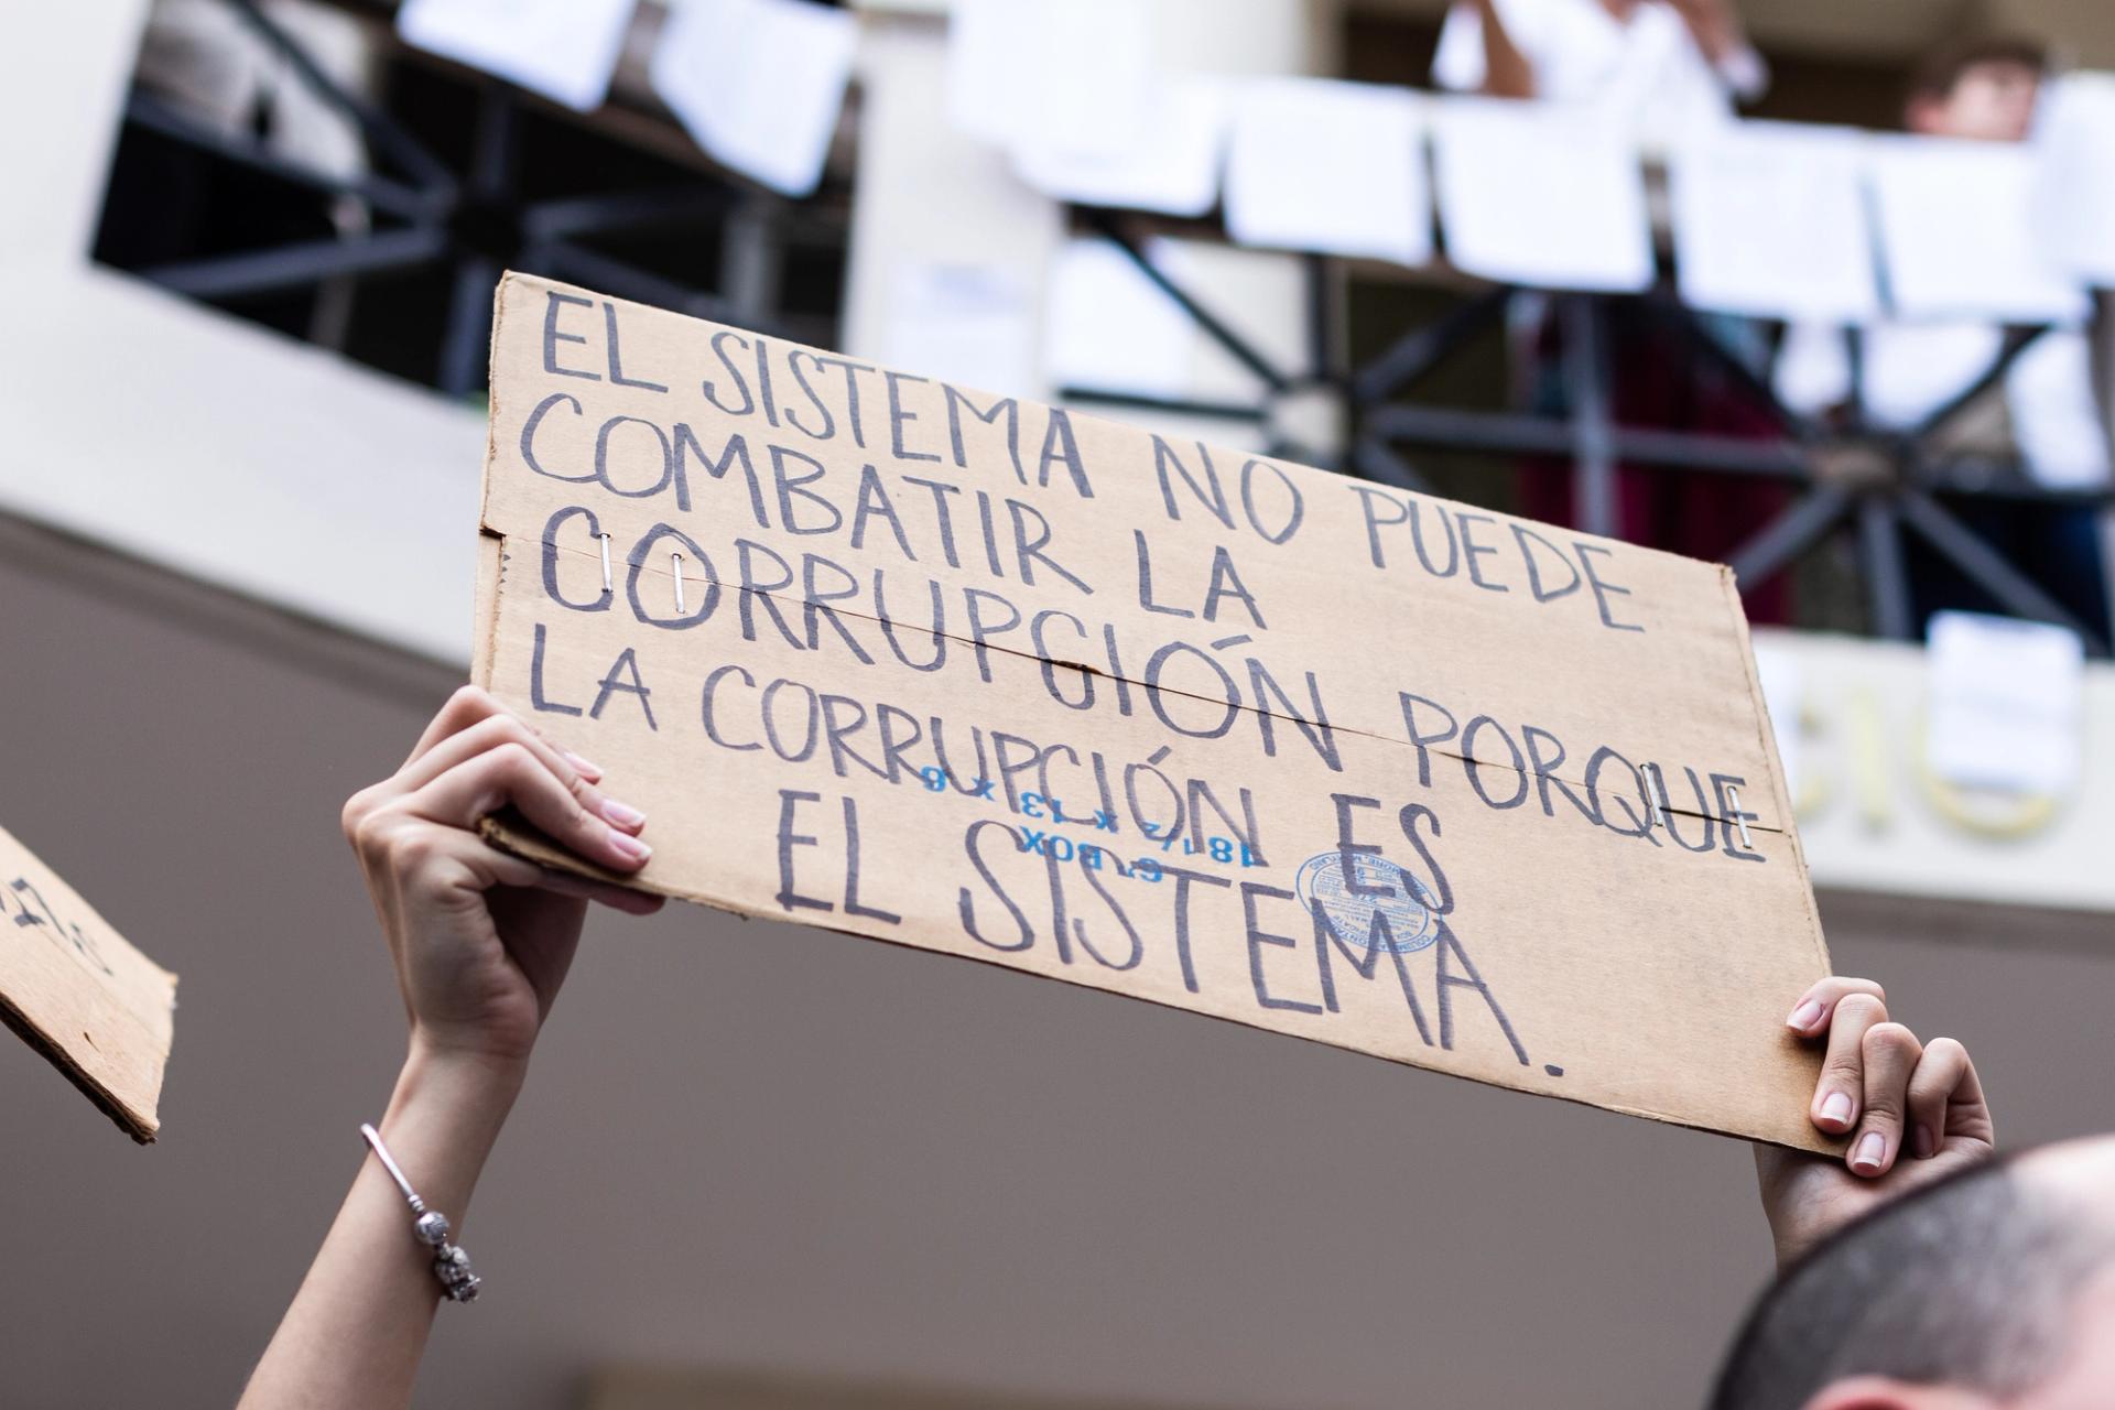
[[[176,975],[0,831],[0,1021],[135,1142],[161,1129]]]

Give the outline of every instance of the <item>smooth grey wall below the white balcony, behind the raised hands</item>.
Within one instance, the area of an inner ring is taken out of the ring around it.
[[[0,1042],[0,1404],[235,1397],[402,1049],[338,801],[448,685],[0,526],[0,818],[184,979],[154,1148]],[[2115,1127],[2104,920],[1829,917],[2011,1142]],[[1768,1258],[1734,1142],[692,907],[594,922],[467,1243],[423,1404],[635,1359],[1681,1406]]]

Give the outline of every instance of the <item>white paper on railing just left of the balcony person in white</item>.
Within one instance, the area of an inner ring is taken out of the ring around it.
[[[1426,125],[1406,89],[1256,78],[1233,97],[1227,235],[1244,245],[1432,260]]]

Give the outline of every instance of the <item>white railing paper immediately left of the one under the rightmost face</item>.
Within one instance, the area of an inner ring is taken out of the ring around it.
[[[1671,148],[1667,184],[1681,302],[1832,323],[1880,313],[1857,133],[1728,123]]]

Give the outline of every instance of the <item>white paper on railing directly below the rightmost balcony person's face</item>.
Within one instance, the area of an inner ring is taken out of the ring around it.
[[[2071,323],[2085,292],[2035,230],[2033,154],[2003,142],[1870,137],[1887,285],[1899,317]]]

